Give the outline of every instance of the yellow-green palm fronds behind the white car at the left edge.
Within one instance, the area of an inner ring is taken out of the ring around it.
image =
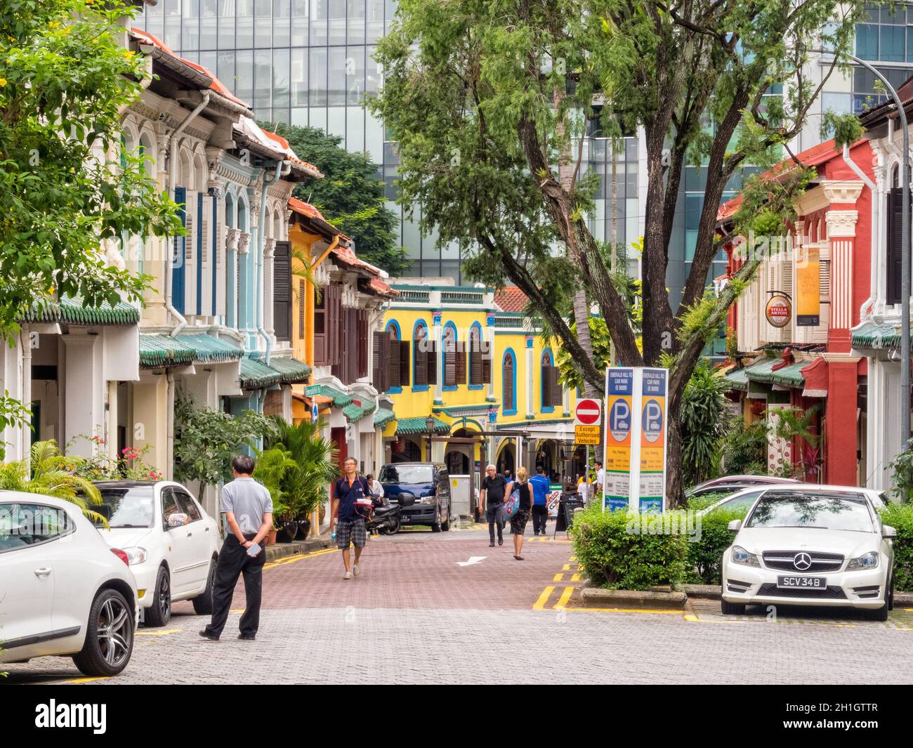
[[[16,490],[23,493],[40,493],[76,504],[82,513],[93,522],[108,524],[108,521],[90,506],[101,503],[101,494],[91,481],[73,471],[79,469],[84,460],[60,454],[53,439],[37,441],[29,450],[29,459],[7,462],[0,465],[0,490]]]

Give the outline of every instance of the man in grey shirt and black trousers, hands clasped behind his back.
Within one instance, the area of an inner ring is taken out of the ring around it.
[[[263,593],[263,564],[267,552],[261,546],[273,526],[273,500],[261,483],[251,478],[254,459],[238,455],[231,463],[235,479],[222,489],[222,511],[231,532],[219,551],[213,586],[213,618],[201,637],[214,641],[222,635],[228,608],[240,574],[244,574],[247,608],[241,616],[239,639],[257,638],[260,600]]]

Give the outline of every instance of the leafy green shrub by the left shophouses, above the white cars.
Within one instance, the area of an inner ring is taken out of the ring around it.
[[[230,416],[210,407],[196,407],[190,395],[178,392],[174,402],[174,477],[206,486],[232,479],[231,461],[242,448],[256,448],[273,431],[268,416],[246,410]]]

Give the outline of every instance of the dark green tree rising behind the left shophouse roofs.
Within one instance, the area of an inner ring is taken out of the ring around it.
[[[383,205],[380,167],[367,153],[350,153],[342,138],[316,127],[265,124],[289,141],[299,158],[313,163],[323,179],[299,184],[294,195],[314,205],[334,226],[355,240],[358,256],[393,276],[409,268],[406,250],[397,246],[399,217]]]

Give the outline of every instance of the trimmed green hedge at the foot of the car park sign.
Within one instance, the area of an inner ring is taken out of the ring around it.
[[[684,512],[667,511],[684,521]],[[666,515],[647,515],[659,517]],[[640,529],[640,524],[636,530]],[[685,579],[687,534],[633,532],[626,511],[593,505],[574,517],[572,542],[577,563],[594,586],[645,590],[654,585],[680,585]]]

